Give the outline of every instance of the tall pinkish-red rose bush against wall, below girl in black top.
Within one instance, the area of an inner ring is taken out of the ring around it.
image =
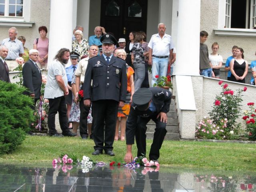
[[[230,131],[234,131],[232,138],[234,139],[234,135],[237,135],[239,132],[239,126],[236,126],[236,119],[238,118],[238,114],[241,111],[241,102],[242,102],[242,92],[246,91],[247,88],[231,90],[228,84],[223,84],[223,81],[219,81],[218,84],[222,86],[222,92],[216,95],[213,109],[209,112],[210,119],[214,124],[219,124],[221,120],[225,118],[228,119],[226,123],[224,136],[230,136]],[[230,138],[226,138],[230,139]]]

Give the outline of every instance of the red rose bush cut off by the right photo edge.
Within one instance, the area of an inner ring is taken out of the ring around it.
[[[250,108],[250,111],[244,111],[244,116],[242,119],[246,123],[246,132],[248,133],[247,137],[251,141],[256,140],[256,109],[254,108],[254,103],[247,103]]]

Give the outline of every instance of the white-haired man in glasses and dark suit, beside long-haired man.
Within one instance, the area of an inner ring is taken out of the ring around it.
[[[30,59],[24,64],[22,68],[23,86],[28,88],[24,94],[34,98],[34,106],[32,106],[32,109],[34,109],[36,106],[36,101],[40,98],[42,85],[42,74],[36,64],[38,61],[38,50],[29,50],[29,58]]]

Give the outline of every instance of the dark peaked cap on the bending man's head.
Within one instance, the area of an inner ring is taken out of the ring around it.
[[[152,97],[153,94],[148,88],[141,88],[133,94],[132,102],[137,106],[138,110],[145,111]]]

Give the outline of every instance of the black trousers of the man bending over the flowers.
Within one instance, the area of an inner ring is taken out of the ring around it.
[[[149,116],[149,117],[138,117],[137,120],[137,128],[136,128],[136,144],[138,148],[137,156],[146,156],[146,124],[152,119],[156,123],[156,128],[154,132],[153,143],[150,148],[149,152],[149,159],[150,160],[158,160],[160,156],[160,148],[164,141],[164,136],[167,133],[166,130],[166,123],[161,122],[160,118],[156,118],[156,115]]]

